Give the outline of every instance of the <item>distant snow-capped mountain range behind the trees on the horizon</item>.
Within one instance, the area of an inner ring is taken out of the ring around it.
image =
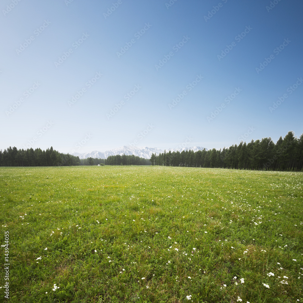
[[[198,150],[203,150],[204,147],[201,146],[193,146],[193,147],[185,147],[185,148],[171,148],[168,149],[166,152],[168,151],[183,151],[183,150],[192,150],[192,151],[198,151]],[[205,148],[207,150],[207,148]],[[86,159],[86,158],[100,158],[100,159],[106,159],[108,156],[114,156],[114,155],[135,155],[138,156],[140,158],[145,158],[145,159],[149,159],[151,158],[151,154],[157,154],[159,155],[159,153],[163,153],[164,151],[156,148],[156,147],[136,147],[136,146],[122,146],[122,147],[118,147],[118,148],[114,148],[110,151],[92,151],[90,153],[83,153],[83,154],[79,154],[77,152],[72,153],[72,155],[74,156],[79,156],[80,159]]]

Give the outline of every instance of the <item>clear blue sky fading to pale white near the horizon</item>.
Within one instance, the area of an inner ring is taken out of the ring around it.
[[[300,0],[3,0],[0,149],[303,133]]]

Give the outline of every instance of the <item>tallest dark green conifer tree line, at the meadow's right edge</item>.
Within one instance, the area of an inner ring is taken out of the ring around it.
[[[271,138],[251,140],[229,148],[206,151],[164,151],[152,154],[152,165],[235,168],[251,170],[301,171],[303,168],[303,134],[298,139],[293,132],[288,132],[284,139],[275,144]]]

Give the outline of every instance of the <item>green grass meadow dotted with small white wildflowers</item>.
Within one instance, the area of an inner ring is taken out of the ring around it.
[[[0,302],[303,302],[303,173],[0,175]]]

